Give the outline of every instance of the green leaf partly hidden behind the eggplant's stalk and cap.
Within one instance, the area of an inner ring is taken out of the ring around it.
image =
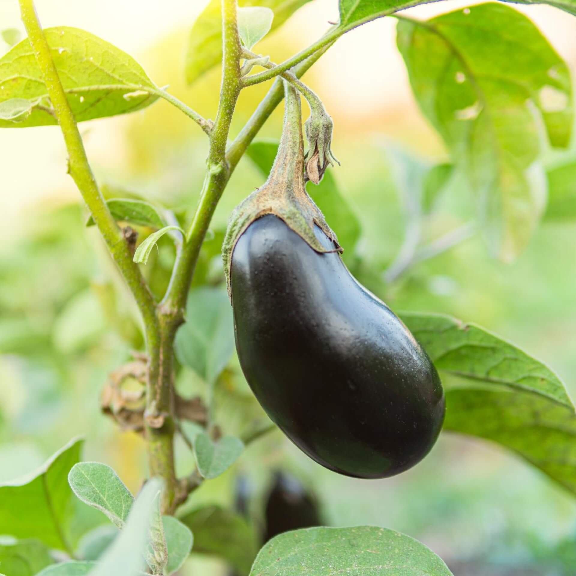
[[[278,151],[278,141],[259,140],[252,142],[246,151],[264,176],[268,176]],[[357,215],[350,204],[340,194],[338,184],[327,170],[319,185],[310,186],[308,194],[323,212],[328,225],[338,236],[338,242],[344,248],[344,260],[354,255],[354,248],[361,236],[362,229]]]

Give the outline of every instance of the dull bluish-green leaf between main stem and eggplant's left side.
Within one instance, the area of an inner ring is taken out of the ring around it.
[[[214,384],[234,351],[234,323],[226,290],[206,286],[192,290],[186,317],[190,321],[176,333],[176,357]]]

